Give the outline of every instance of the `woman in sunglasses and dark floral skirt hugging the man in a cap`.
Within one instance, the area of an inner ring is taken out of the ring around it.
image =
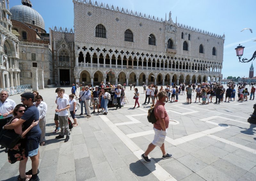
[[[23,104],[18,104],[14,108],[12,114],[13,118],[11,119],[10,122],[14,123],[17,122],[21,116],[24,114],[26,110],[26,106]],[[7,123],[9,124],[9,123]],[[19,180],[21,181],[26,181],[28,180],[31,176],[26,176],[26,163],[28,161],[28,157],[25,156],[25,147],[26,147],[26,139],[24,139],[24,136],[28,133],[28,131],[36,126],[38,124],[38,121],[32,122],[32,124],[24,130],[24,127],[20,125],[19,127],[15,128],[14,131],[16,134],[20,134],[23,138],[21,138],[18,143],[13,147],[8,149],[8,161],[10,163],[15,163],[17,161],[20,161],[19,164]]]

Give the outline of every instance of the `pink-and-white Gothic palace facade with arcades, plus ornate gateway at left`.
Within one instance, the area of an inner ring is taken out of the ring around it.
[[[221,80],[225,35],[115,5],[73,0],[74,32],[50,29],[55,83]],[[111,70],[110,70],[111,69]]]

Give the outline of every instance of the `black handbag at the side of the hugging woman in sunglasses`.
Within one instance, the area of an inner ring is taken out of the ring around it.
[[[16,134],[14,129],[2,129],[0,132],[0,145],[6,148],[13,148],[20,138],[20,134]]]

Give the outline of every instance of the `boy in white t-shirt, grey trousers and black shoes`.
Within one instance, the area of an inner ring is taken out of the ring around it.
[[[60,122],[60,135],[56,136],[56,139],[64,138],[64,131],[66,131],[66,139],[64,142],[69,140],[69,128],[68,128],[68,108],[70,107],[69,101],[63,96],[64,90],[59,90],[59,98],[57,99],[57,109],[55,112],[59,112],[58,118]]]

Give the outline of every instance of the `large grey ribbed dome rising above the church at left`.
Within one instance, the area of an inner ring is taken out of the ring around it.
[[[30,6],[29,5],[30,4],[13,6],[10,9],[10,12],[12,13],[11,20],[28,23],[44,29],[43,17],[36,10],[30,7],[32,4]]]

